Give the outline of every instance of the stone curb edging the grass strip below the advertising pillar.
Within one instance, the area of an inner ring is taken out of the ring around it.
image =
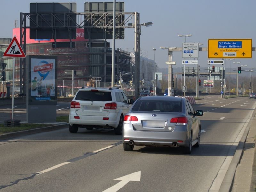
[[[14,137],[31,135],[31,134],[35,134],[35,133],[41,133],[41,132],[54,131],[54,130],[63,129],[63,128],[67,128],[67,127],[68,127],[68,123],[65,123],[65,124],[52,125],[52,126],[48,126],[48,127],[28,129],[28,130],[18,131],[18,132],[4,133],[4,134],[0,135],[0,140],[6,140],[6,139],[14,138]]]

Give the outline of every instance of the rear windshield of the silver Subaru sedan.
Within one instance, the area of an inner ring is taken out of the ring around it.
[[[139,100],[132,106],[132,111],[181,112],[181,101]]]

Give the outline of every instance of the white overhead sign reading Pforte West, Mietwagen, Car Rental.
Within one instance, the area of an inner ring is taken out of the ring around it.
[[[182,43],[183,58],[198,58],[199,43]]]

